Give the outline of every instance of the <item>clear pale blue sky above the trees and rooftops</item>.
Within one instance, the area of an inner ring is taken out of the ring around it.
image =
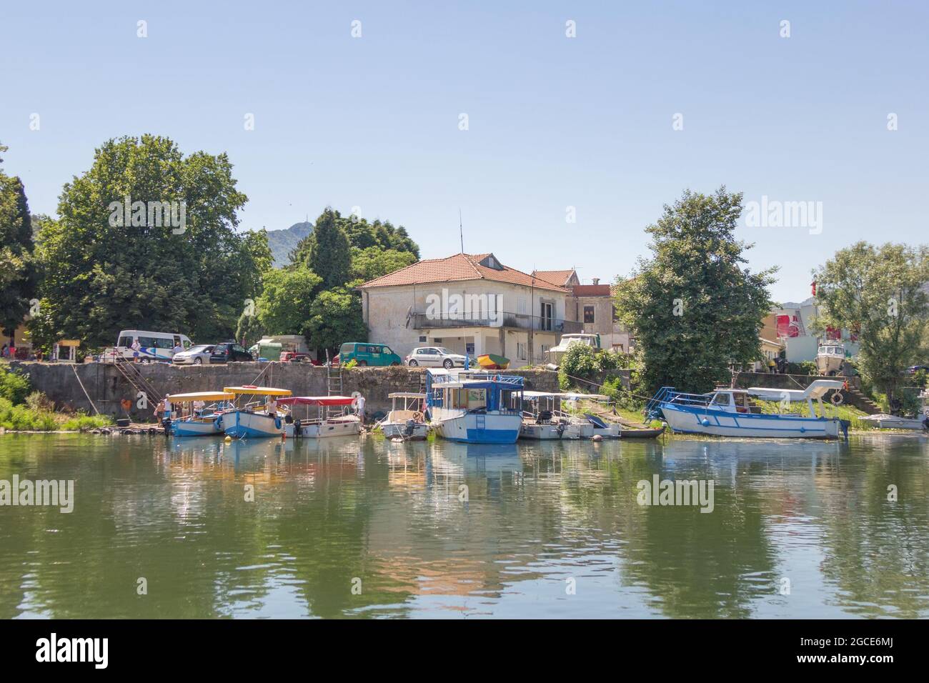
[[[837,248],[929,232],[924,3],[0,3],[4,169],[33,212],[103,140],[156,133],[229,152],[242,229],[358,205],[448,256],[460,207],[466,251],[584,282],[628,274],[685,188],[822,202],[821,234],[739,228],[779,300]]]

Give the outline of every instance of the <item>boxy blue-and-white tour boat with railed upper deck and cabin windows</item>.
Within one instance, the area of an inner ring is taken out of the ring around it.
[[[438,436],[463,443],[516,443],[522,425],[522,377],[427,371],[425,404]],[[518,397],[514,401],[514,397]]]

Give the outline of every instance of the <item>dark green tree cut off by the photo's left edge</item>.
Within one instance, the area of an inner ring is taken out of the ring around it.
[[[0,151],[7,147],[0,145]],[[10,336],[35,296],[38,277],[33,251],[32,217],[22,182],[0,171],[0,331]]]

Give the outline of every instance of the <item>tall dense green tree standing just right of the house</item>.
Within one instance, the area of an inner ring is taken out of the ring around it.
[[[758,334],[771,309],[776,269],[744,268],[750,244],[733,236],[741,193],[689,190],[646,228],[652,255],[617,282],[616,307],[635,335],[648,390],[708,391],[728,365],[760,357]]]

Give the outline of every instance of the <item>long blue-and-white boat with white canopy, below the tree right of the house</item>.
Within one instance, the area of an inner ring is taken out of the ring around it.
[[[708,394],[686,394],[675,391],[674,387],[661,387],[648,401],[646,414],[651,418],[663,418],[668,427],[684,434],[836,439],[840,431],[847,434],[849,423],[838,417],[826,417],[822,399],[828,392],[838,391],[843,386],[844,383],[839,380],[817,379],[805,389],[718,388]],[[841,397],[841,394],[838,395]],[[752,397],[778,401],[782,410],[789,409],[791,403],[805,402],[808,414],[765,414]],[[813,401],[818,402],[818,415]]]

